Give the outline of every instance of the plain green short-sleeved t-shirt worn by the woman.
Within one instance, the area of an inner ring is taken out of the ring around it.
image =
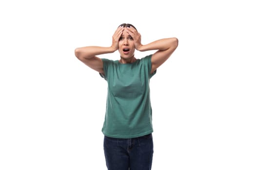
[[[105,120],[102,133],[115,138],[133,138],[153,132],[150,102],[151,57],[121,64],[102,58],[108,83]]]

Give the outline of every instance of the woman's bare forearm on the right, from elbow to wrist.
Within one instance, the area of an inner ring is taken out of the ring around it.
[[[176,48],[177,38],[163,38],[156,41],[153,41],[146,45],[141,45],[137,50],[138,51],[150,51],[150,50],[159,50],[165,51],[172,47]]]

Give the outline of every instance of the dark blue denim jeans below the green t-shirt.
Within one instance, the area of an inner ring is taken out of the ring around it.
[[[119,139],[104,136],[104,154],[108,170],[151,170],[152,134]]]

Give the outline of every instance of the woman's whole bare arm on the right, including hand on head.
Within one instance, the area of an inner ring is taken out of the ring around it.
[[[153,41],[149,44],[141,44],[141,36],[134,28],[128,28],[128,33],[134,38],[135,48],[138,51],[150,51],[158,50],[152,55],[151,58],[151,71],[153,73],[159,66],[161,66],[176,50],[178,46],[178,39],[173,38],[163,38],[156,41]]]

